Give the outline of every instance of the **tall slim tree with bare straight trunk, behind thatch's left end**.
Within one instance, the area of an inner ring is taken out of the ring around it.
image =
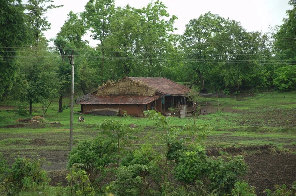
[[[115,0],[89,0],[82,16],[90,28],[92,37],[100,41],[102,51],[101,83],[104,82],[105,39],[111,31],[111,20],[115,13]]]

